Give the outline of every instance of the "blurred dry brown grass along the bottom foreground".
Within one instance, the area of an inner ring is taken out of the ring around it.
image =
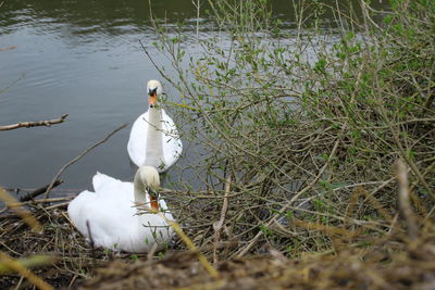
[[[78,289],[432,289],[434,240],[400,253],[389,247],[287,260],[279,253],[221,262],[212,279],[191,254],[159,262],[114,262]]]

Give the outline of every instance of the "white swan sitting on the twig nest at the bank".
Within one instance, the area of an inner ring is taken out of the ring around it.
[[[96,247],[137,253],[148,252],[153,243],[158,243],[158,250],[169,244],[173,230],[163,217],[153,213],[137,215],[135,207],[149,204],[150,194],[151,207],[159,209],[151,194],[160,186],[156,168],[139,167],[134,184],[101,173],[94,176],[92,184],[95,192],[80,192],[67,207],[74,226],[87,240],[90,231]],[[167,219],[174,220],[164,200],[160,200],[160,207]]]

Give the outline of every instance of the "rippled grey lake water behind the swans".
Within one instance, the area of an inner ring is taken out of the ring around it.
[[[184,21],[186,34],[196,35],[191,0],[152,2],[157,17],[165,17],[167,25]],[[291,1],[270,2],[274,16],[293,28]],[[385,2],[377,1],[375,8],[386,8]],[[213,25],[204,9],[200,33],[210,35]],[[334,22],[333,15],[324,16]],[[50,182],[83,150],[145,112],[146,81],[161,77],[139,40],[159,65],[169,66],[151,45],[156,39],[148,1],[5,1],[0,7],[0,49],[16,47],[0,51],[0,125],[70,116],[50,128],[0,131],[0,185],[38,188]],[[188,49],[195,50],[195,43]],[[163,81],[163,86],[176,101],[170,85]],[[171,114],[171,108],[166,110]],[[72,165],[62,176],[65,182],[61,188],[90,189],[96,171],[130,180],[129,129]],[[195,163],[195,154],[185,148],[177,166],[170,171],[173,176],[181,176],[185,165]]]

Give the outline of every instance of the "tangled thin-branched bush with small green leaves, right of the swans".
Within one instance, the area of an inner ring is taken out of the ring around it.
[[[183,138],[201,152],[177,216],[202,245],[235,242],[223,259],[264,247],[334,252],[395,231],[398,160],[412,211],[433,220],[434,4],[393,1],[376,23],[363,1],[362,20],[298,3],[296,36],[260,0],[211,3],[225,34],[199,38],[195,55],[187,36],[160,30],[157,47],[177,73],[162,72],[182,96]],[[318,17],[325,11],[338,23],[330,37]]]

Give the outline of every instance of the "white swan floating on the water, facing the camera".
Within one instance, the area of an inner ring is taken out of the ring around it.
[[[167,171],[183,151],[182,140],[172,118],[158,105],[163,87],[158,80],[147,84],[149,109],[133,124],[128,139],[128,154],[137,166],[153,166]]]

